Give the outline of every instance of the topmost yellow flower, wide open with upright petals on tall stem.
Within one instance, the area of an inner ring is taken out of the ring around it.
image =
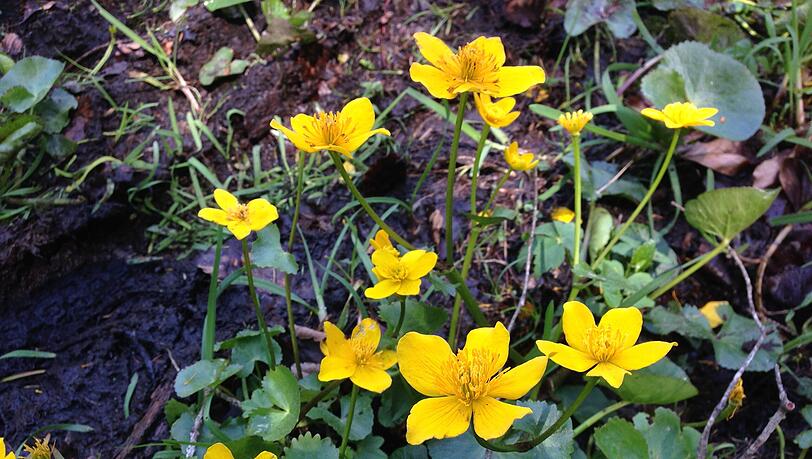
[[[414,63],[409,75],[434,97],[453,99],[467,91],[507,97],[545,80],[544,70],[537,65],[505,66],[505,48],[499,37],[479,37],[456,54],[427,33],[417,32],[414,39],[431,65]]]

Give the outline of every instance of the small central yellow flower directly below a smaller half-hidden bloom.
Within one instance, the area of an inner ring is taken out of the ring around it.
[[[378,283],[364,291],[367,298],[380,300],[394,294],[417,295],[420,293],[420,278],[434,269],[437,254],[412,250],[398,257],[388,250],[376,250],[372,253],[372,264]]]

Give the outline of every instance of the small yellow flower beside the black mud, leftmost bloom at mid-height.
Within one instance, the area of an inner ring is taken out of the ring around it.
[[[276,207],[265,199],[252,199],[248,204],[241,204],[233,194],[218,188],[214,190],[214,200],[219,209],[206,207],[200,209],[197,216],[225,226],[239,240],[279,218]]]

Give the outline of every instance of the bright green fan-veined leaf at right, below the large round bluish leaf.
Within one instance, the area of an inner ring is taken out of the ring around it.
[[[706,191],[685,203],[685,218],[699,231],[730,240],[764,215],[776,196],[778,189],[753,187]]]

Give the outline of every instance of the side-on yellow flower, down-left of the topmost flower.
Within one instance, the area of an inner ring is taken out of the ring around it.
[[[292,130],[271,121],[272,128],[282,131],[296,148],[308,153],[330,150],[352,156],[373,135],[389,135],[386,129],[372,129],[375,110],[366,97],[351,100],[338,113],[300,113],[290,119],[290,125]]]

